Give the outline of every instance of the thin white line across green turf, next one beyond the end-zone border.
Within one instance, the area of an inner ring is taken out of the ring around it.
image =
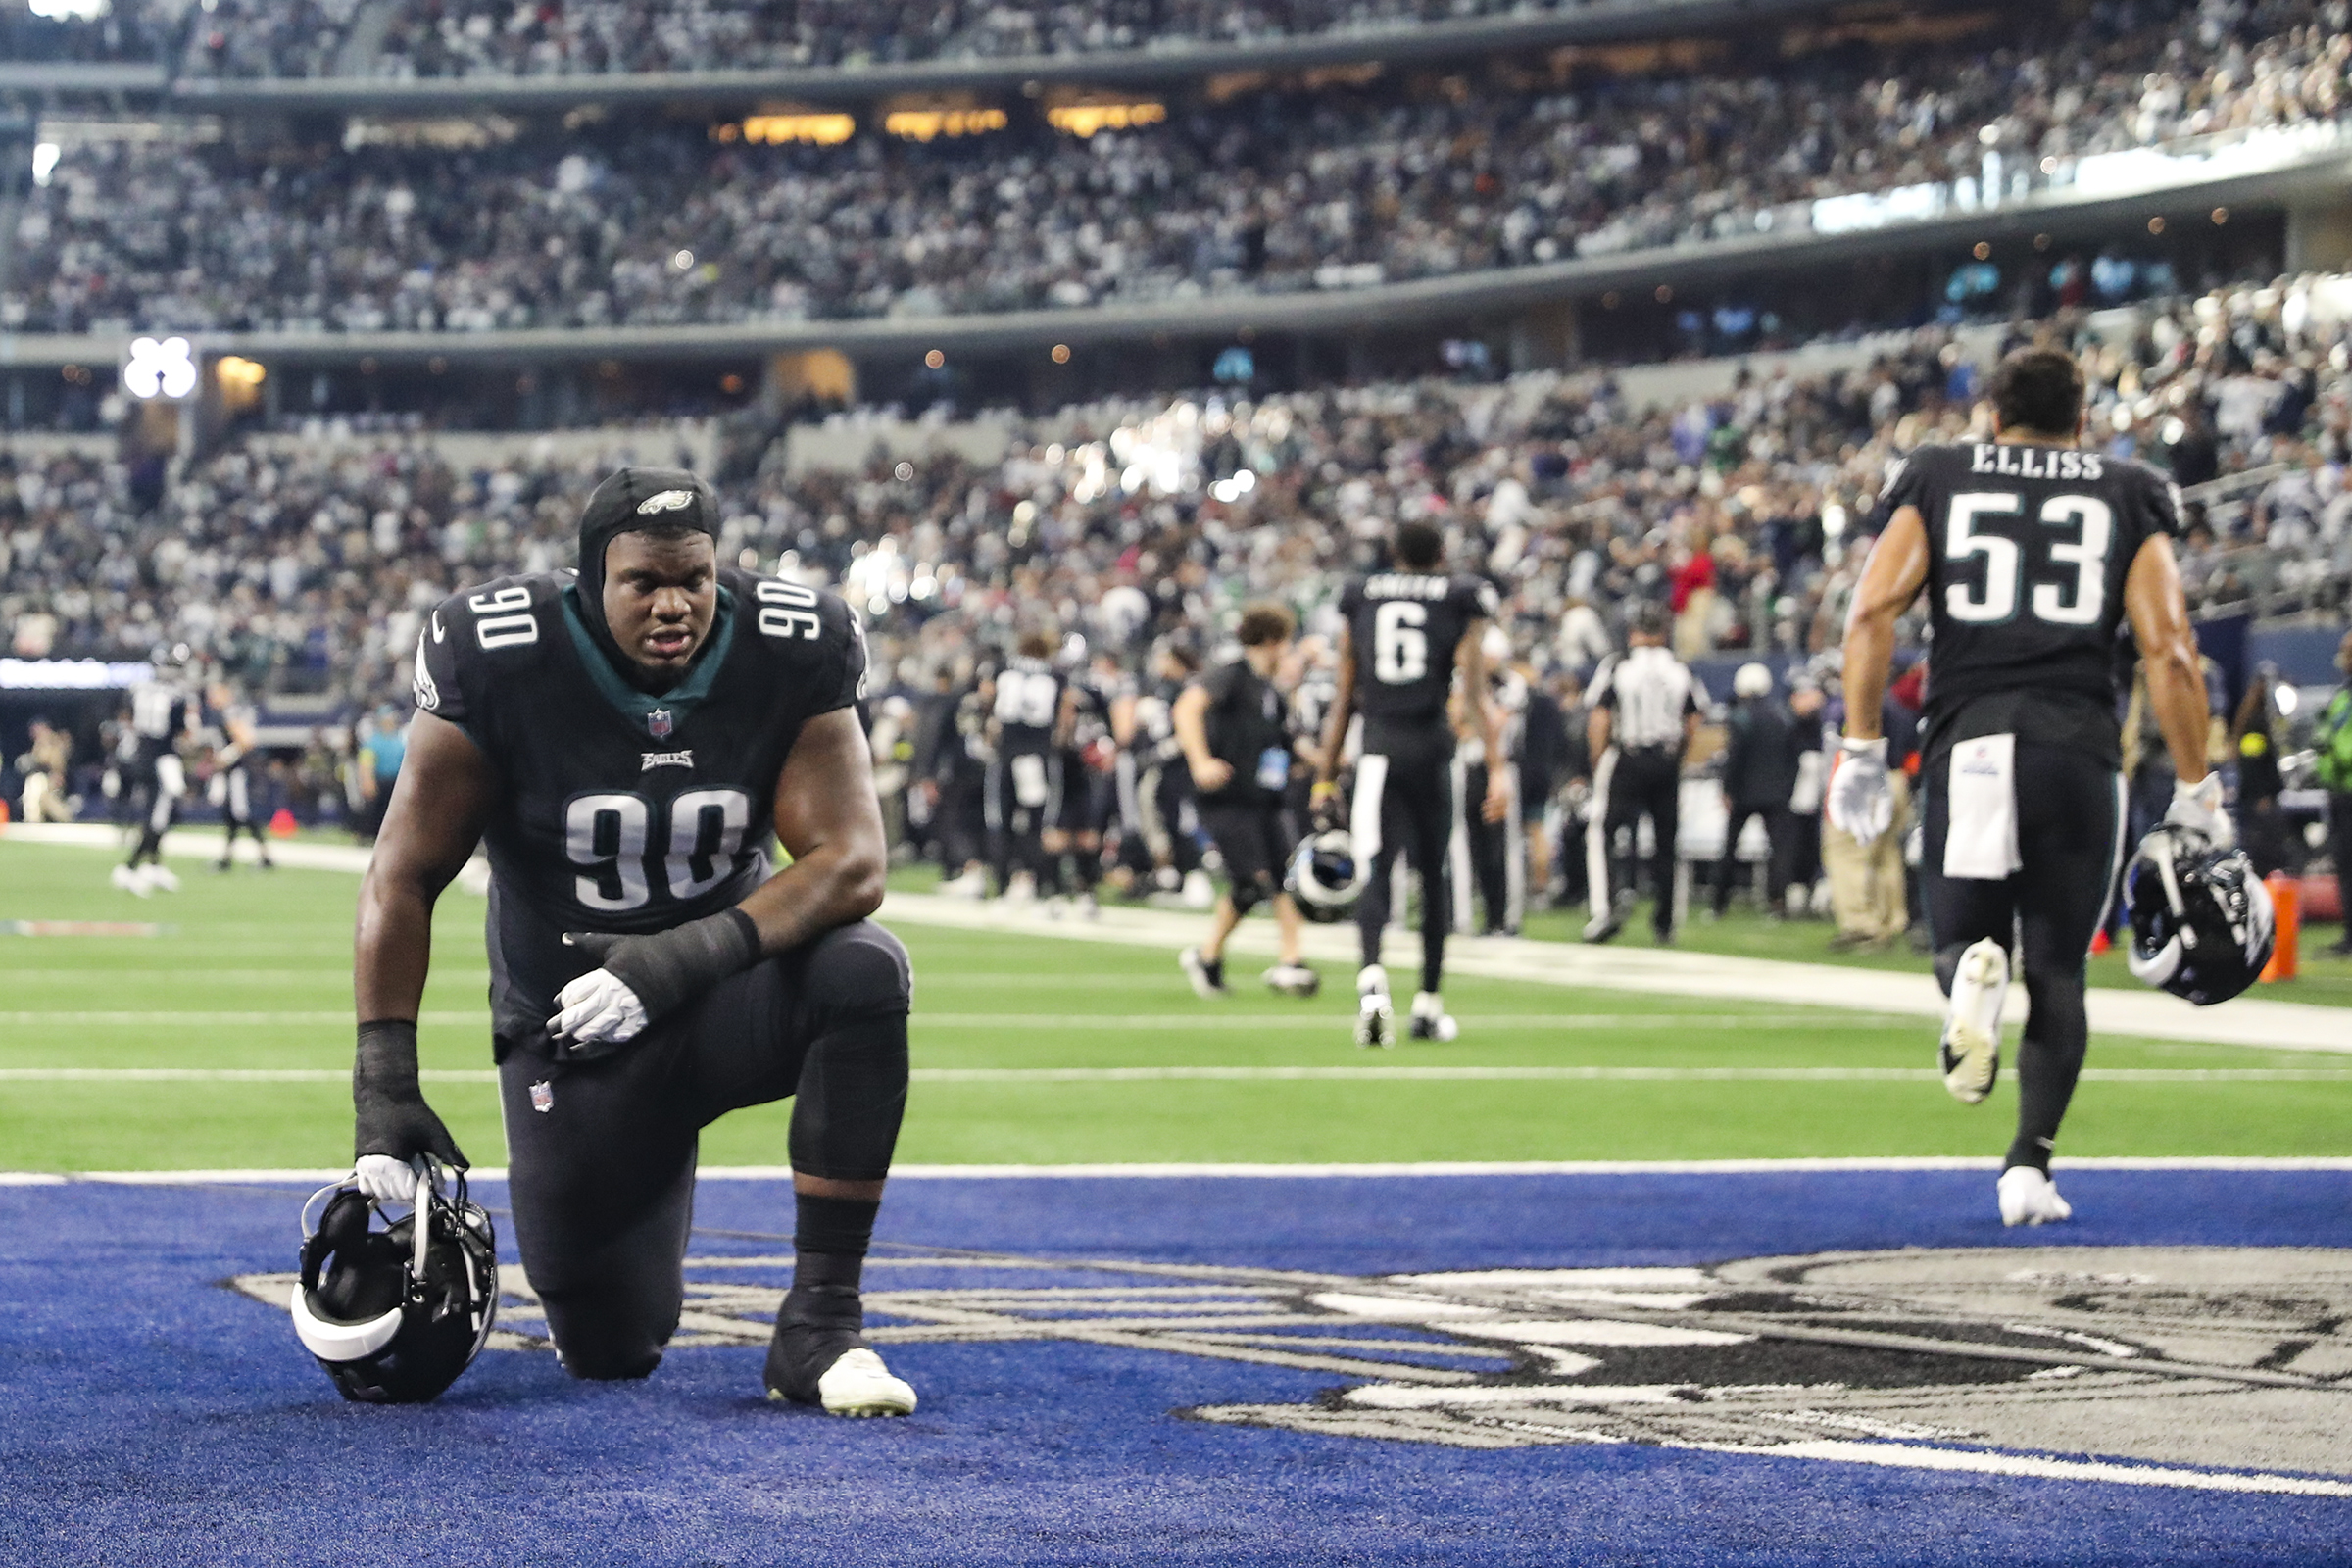
[[[426,1067],[426,1084],[496,1084]],[[2107,1084],[2352,1084],[2328,1067],[2096,1067]],[[341,1084],[346,1067],[0,1067],[0,1084]],[[1931,1084],[1933,1067],[915,1067],[917,1084]]]

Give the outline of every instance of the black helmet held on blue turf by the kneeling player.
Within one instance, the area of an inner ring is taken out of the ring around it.
[[[332,1197],[327,1197],[332,1194]],[[318,1227],[310,1206],[327,1199]],[[360,1403],[426,1403],[473,1366],[499,1312],[496,1234],[466,1197],[421,1187],[416,1211],[376,1229],[350,1178],[303,1204],[294,1333]]]

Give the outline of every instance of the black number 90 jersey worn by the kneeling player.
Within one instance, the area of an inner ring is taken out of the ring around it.
[[[416,708],[499,776],[482,842],[501,1058],[541,1046],[555,992],[593,969],[564,931],[666,931],[767,879],[783,759],[863,686],[847,604],[734,567],[687,679],[659,696],[612,668],[569,571],[499,578],[426,618]]]

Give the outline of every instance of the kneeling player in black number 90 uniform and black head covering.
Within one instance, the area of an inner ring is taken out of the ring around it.
[[[416,1088],[433,900],[487,839],[492,1030],[522,1265],[576,1378],[644,1378],[677,1328],[699,1131],[793,1098],[793,1288],[774,1399],[906,1415],[858,1276],[906,1110],[906,950],[854,703],[856,618],[717,559],[701,480],[623,468],[579,576],[442,602],[360,891],[360,1185],[463,1166]],[[769,870],[767,842],[790,865]]]

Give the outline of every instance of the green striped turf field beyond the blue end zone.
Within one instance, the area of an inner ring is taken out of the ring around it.
[[[106,886],[106,853],[0,842],[0,922],[169,926],[153,938],[0,936],[0,1168],[348,1159],[339,1074],[350,1063],[358,879],[176,867],[186,891],[141,903]],[[459,891],[442,900],[421,1039],[428,1074],[463,1074],[428,1081],[435,1107],[475,1161],[499,1164],[482,910]],[[1710,931],[1729,938],[1738,922]],[[1797,931],[1818,950],[1818,929]],[[1249,980],[1211,1004],[1171,954],[1148,947],[917,924],[898,933],[917,971],[903,1161],[1886,1157],[1997,1154],[2009,1140],[2006,1074],[1992,1103],[1955,1105],[1924,1072],[1931,1032],[1917,1018],[1461,978],[1446,990],[1463,1020],[1456,1044],[1362,1053],[1348,1044],[1343,985],[1291,1001]],[[2288,999],[2286,987],[2267,994]],[[256,1070],[306,1077],[214,1077]],[[1569,1077],[1581,1070],[1595,1077]],[[2098,1039],[2091,1070],[2063,1154],[2352,1154],[2347,1058]],[[1740,1077],[1705,1077],[1724,1072]],[[703,1159],[783,1164],[788,1114],[727,1117],[706,1133]]]

